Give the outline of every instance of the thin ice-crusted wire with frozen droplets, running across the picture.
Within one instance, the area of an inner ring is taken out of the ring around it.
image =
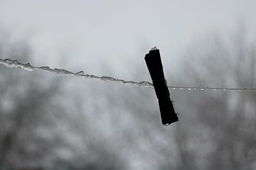
[[[0,59],[0,64],[3,64],[7,67],[20,67],[21,69],[25,69],[27,71],[34,71],[36,69],[41,70],[41,71],[48,71],[50,73],[54,73],[60,76],[77,76],[79,78],[94,78],[94,79],[99,79],[103,81],[117,81],[120,83],[124,83],[124,85],[136,85],[138,87],[150,87],[154,88],[153,84],[148,82],[148,81],[126,81],[118,78],[113,78],[109,76],[95,76],[92,74],[84,74],[84,71],[79,71],[77,73],[73,73],[71,71],[67,71],[65,69],[51,69],[48,66],[41,66],[41,67],[36,67],[36,66],[31,66],[31,64],[23,64],[17,60],[11,60],[11,59]],[[251,91],[256,91],[255,88],[221,88],[221,87],[180,87],[180,86],[168,86],[170,89],[177,89],[177,90],[251,90]]]

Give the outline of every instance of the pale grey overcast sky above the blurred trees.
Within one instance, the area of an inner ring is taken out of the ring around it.
[[[255,7],[253,0],[0,0],[0,25],[29,37],[38,66],[103,75],[103,63],[118,78],[132,79],[129,71],[145,67],[153,46],[168,72],[195,39],[232,32],[241,20],[255,38]]]

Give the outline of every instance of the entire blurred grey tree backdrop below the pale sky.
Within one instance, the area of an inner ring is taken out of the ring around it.
[[[0,36],[1,58],[33,60],[26,41]],[[255,57],[243,27],[213,34],[186,50],[172,82],[255,87]],[[0,71],[0,169],[256,168],[255,92],[171,90],[180,121],[164,127],[154,90]]]

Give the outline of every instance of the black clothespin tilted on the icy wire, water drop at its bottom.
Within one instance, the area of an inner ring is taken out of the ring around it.
[[[164,79],[160,52],[156,46],[146,54],[145,61],[156,91],[163,125],[170,125],[179,121],[170,99],[170,93]]]

